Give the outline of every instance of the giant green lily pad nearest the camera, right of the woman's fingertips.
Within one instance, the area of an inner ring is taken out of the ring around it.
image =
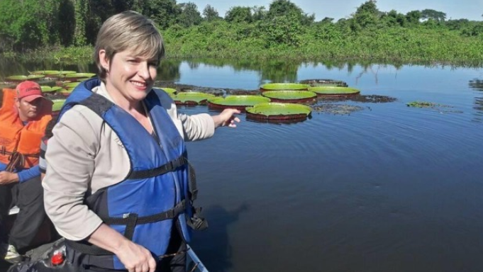
[[[260,103],[247,107],[247,118],[251,120],[305,120],[311,108],[296,103]]]

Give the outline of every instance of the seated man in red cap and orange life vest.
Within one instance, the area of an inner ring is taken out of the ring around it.
[[[52,120],[52,101],[40,85],[23,81],[4,89],[0,108],[0,256],[22,261],[18,252],[28,248],[45,218],[43,188],[38,166],[40,142]],[[6,217],[19,208],[7,237]]]

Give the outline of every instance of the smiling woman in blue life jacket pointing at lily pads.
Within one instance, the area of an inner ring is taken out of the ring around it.
[[[94,53],[100,80],[72,92],[48,142],[45,210],[66,238],[67,260],[85,271],[184,271],[187,225],[202,225],[184,140],[240,121],[235,109],[177,113],[152,90],[164,53],[148,18],[109,18]]]

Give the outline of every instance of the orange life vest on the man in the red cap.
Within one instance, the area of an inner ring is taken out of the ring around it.
[[[3,91],[4,99],[0,108],[0,163],[7,165],[6,171],[28,169],[38,164],[40,141],[52,115],[40,115],[38,120],[23,125],[15,108],[16,90]]]

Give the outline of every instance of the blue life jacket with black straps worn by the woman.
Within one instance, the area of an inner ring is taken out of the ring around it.
[[[90,108],[119,137],[131,161],[131,169],[123,181],[94,194],[87,193],[85,204],[104,223],[155,256],[162,256],[175,225],[185,242],[189,242],[191,236],[187,225],[198,229],[207,227],[191,206],[197,191],[184,140],[161,105],[160,99],[167,96],[164,91],[153,89],[143,101],[158,142],[129,113],[91,91],[100,84],[96,78],[79,84],[65,101],[59,120],[74,105]],[[67,241],[67,246],[89,254],[89,262],[93,265],[126,269],[117,256],[88,242]]]

